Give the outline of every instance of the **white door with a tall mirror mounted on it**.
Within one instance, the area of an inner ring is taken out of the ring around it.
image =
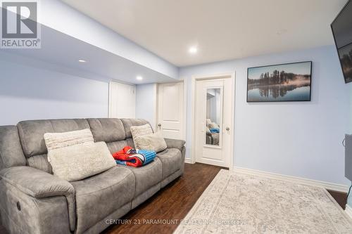
[[[196,81],[196,162],[230,167],[232,79]]]

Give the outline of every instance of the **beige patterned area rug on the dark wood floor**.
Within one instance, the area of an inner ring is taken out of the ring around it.
[[[221,170],[175,233],[352,233],[324,188]]]

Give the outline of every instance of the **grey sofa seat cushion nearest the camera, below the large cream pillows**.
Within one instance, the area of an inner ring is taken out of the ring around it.
[[[113,167],[101,174],[72,182],[75,188],[77,233],[83,233],[98,221],[131,202],[134,174],[125,167]]]

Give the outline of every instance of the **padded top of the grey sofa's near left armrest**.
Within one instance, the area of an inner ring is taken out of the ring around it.
[[[75,228],[75,189],[68,182],[32,167],[8,167],[0,178],[21,192],[35,198],[65,196],[68,202],[71,230]]]

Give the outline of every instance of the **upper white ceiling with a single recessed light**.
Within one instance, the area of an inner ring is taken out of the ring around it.
[[[62,1],[181,67],[333,44],[347,0]]]

